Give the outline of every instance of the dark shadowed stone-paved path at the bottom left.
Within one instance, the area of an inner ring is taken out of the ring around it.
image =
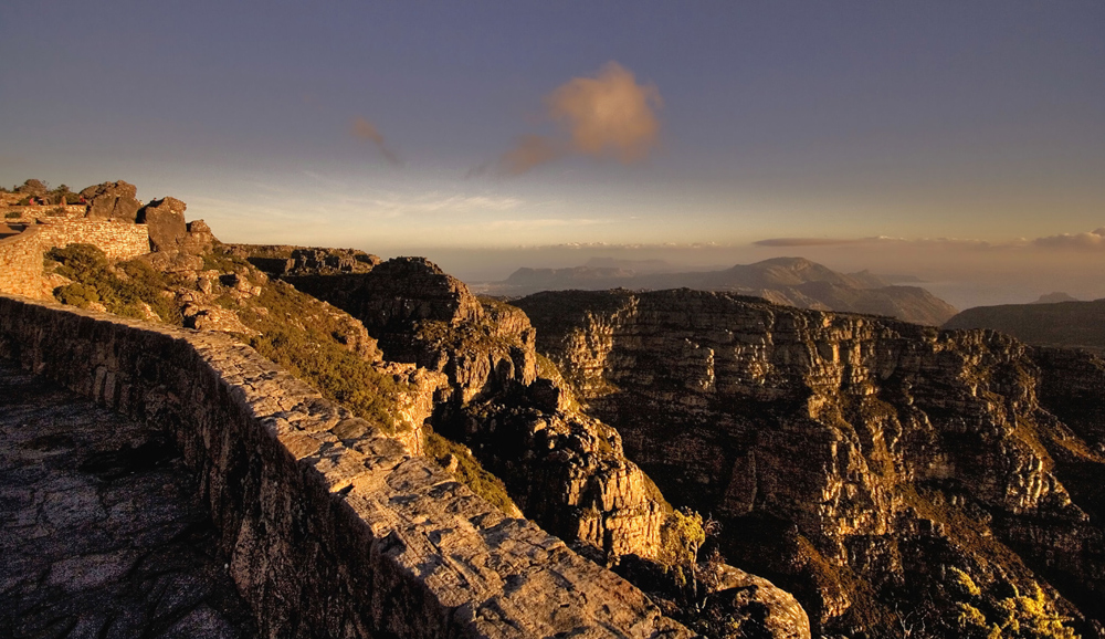
[[[170,441],[0,359],[0,637],[254,637]]]

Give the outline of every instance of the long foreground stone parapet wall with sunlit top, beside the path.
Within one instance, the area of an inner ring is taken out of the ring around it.
[[[228,337],[0,296],[0,357],[172,431],[264,636],[687,635]]]

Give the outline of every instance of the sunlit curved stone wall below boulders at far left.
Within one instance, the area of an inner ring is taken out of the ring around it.
[[[0,293],[50,298],[57,282],[43,275],[42,254],[55,247],[87,243],[108,258],[128,260],[149,253],[145,224],[88,220],[57,220],[28,227],[0,240]]]

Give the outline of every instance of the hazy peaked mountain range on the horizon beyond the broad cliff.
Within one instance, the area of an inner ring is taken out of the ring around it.
[[[695,289],[753,295],[800,308],[888,315],[934,326],[956,314],[955,307],[924,289],[892,286],[867,271],[838,273],[802,258],[774,258],[699,272],[649,273],[633,265],[629,260],[592,260],[570,269],[518,269],[505,281],[488,284],[481,292],[520,296],[539,291]],[[664,265],[660,261],[648,263],[652,269]]]

